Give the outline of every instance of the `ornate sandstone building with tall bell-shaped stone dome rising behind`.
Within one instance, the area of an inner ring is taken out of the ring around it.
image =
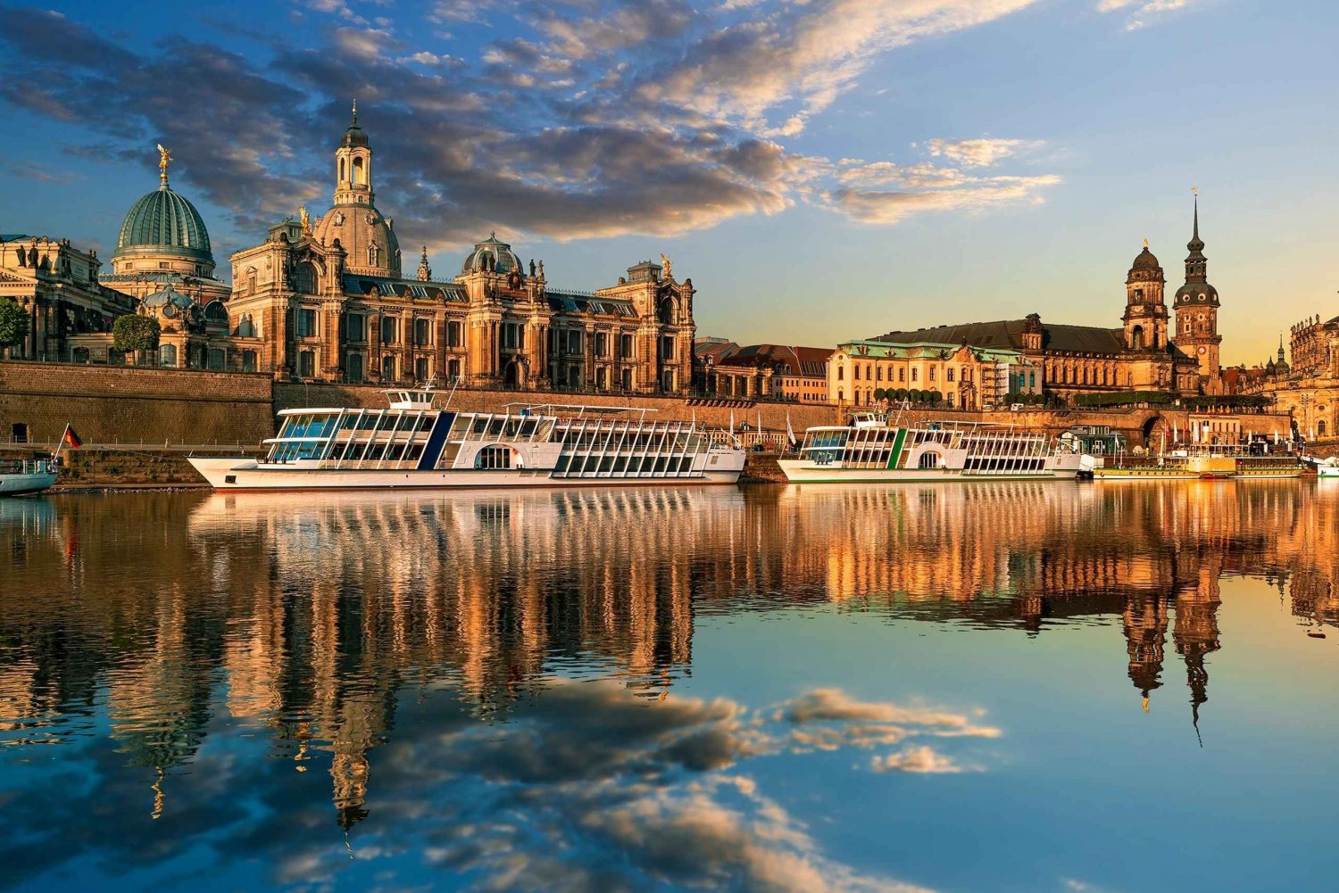
[[[692,280],[643,261],[593,293],[549,285],[490,234],[451,278],[423,249],[403,274],[376,206],[372,147],[353,119],[335,150],[331,209],[301,212],[232,257],[232,343],[276,375],[335,382],[688,392]]]

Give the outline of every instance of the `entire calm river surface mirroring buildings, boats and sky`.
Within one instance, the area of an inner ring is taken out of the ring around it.
[[[0,889],[1331,890],[1330,483],[0,501]]]

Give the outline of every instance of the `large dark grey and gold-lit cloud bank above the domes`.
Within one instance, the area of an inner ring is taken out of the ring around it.
[[[1036,143],[935,141],[932,157],[956,166],[848,170],[795,151],[790,138],[880,54],[1031,3],[441,3],[431,20],[497,35],[449,55],[403,20],[370,24],[360,11],[380,4],[304,0],[320,13],[315,37],[254,59],[171,35],[161,40],[171,52],[131,54],[33,9],[0,17],[0,44],[21,63],[0,100],[78,122],[90,138],[66,151],[108,147],[142,166],[146,190],[157,183],[153,145],[173,149],[174,186],[230,214],[230,228],[206,221],[218,257],[297,205],[327,201],[331,146],[352,96],[378,153],[380,209],[406,244],[431,250],[493,229],[675,236],[797,204],[894,224],[923,209],[1036,199],[1042,181],[964,173]]]

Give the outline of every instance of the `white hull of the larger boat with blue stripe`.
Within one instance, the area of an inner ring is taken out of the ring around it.
[[[253,459],[193,457],[190,465],[216,490],[469,490],[501,487],[623,487],[623,486],[706,486],[739,481],[743,467],[710,469],[691,477],[645,478],[556,478],[548,469],[506,469],[495,471],[447,469],[412,470],[333,470],[264,467]]]

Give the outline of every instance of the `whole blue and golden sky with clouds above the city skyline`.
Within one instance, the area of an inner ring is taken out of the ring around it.
[[[356,98],[407,272],[494,230],[553,288],[664,253],[740,344],[1118,327],[1145,238],[1184,281],[1198,186],[1257,363],[1339,313],[1336,33],[1324,0],[0,4],[0,232],[107,257],[161,142],[228,278],[329,206]]]

